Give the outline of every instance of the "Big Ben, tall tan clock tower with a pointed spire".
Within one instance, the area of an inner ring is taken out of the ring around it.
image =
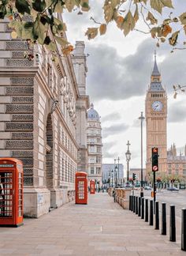
[[[149,175],[152,171],[151,149],[153,147],[158,148],[158,171],[167,171],[167,96],[165,88],[162,87],[161,74],[159,73],[156,62],[156,54],[154,55],[154,68],[151,73],[151,85],[147,90],[145,112],[147,130],[146,171],[147,175]]]

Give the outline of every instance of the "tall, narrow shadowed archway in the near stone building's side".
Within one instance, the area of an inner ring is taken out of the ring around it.
[[[53,125],[51,114],[47,117],[47,129],[46,129],[47,145],[46,145],[46,186],[48,190],[52,190],[54,187],[54,162],[53,162]],[[52,207],[52,198],[50,196],[50,207]]]

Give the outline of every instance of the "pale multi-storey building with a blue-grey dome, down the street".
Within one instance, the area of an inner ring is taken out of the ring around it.
[[[102,186],[102,127],[94,105],[87,111],[88,179]]]

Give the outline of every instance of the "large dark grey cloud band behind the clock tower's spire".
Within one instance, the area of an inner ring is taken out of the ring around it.
[[[166,57],[158,68],[162,73],[162,85],[168,93],[173,84],[182,85],[186,77],[186,58],[183,51],[169,54],[169,46],[158,49],[158,58]],[[154,40],[141,43],[134,55],[122,58],[113,47],[106,44],[90,45],[87,58],[87,93],[95,100],[124,100],[132,96],[145,95],[153,68]]]

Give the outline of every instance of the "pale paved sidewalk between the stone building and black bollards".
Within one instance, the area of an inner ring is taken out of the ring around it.
[[[88,205],[69,203],[20,228],[0,228],[0,255],[186,255],[108,194],[93,194]]]

